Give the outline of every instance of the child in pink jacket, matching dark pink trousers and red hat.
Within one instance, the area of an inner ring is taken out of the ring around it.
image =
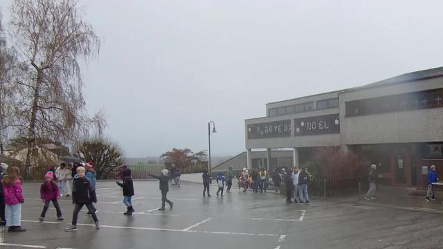
[[[44,208],[42,214],[40,214],[39,221],[44,220],[46,211],[48,211],[49,203],[52,201],[57,210],[57,221],[63,221],[62,210],[60,210],[60,205],[58,205],[57,199],[60,199],[60,190],[57,183],[53,181],[53,172],[46,172],[44,176],[44,183],[40,187],[40,199],[44,202]]]

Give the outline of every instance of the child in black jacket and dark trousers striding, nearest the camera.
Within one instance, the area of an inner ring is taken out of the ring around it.
[[[93,188],[92,183],[85,176],[86,169],[84,167],[77,167],[77,174],[74,176],[72,187],[72,203],[75,205],[72,214],[71,228],[66,228],[66,232],[77,231],[77,218],[78,212],[82,210],[83,205],[86,205],[88,211],[92,215],[96,228],[100,229],[98,223],[98,217],[93,210],[93,202],[97,202],[96,190]]]

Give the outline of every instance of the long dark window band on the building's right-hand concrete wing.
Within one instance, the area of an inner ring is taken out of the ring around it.
[[[443,89],[346,102],[346,116],[443,107]]]

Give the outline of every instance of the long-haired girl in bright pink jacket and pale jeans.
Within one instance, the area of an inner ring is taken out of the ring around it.
[[[8,167],[2,183],[6,204],[6,225],[8,226],[8,232],[24,232],[26,229],[21,228],[21,203],[24,203],[25,199],[21,189],[19,167]]]

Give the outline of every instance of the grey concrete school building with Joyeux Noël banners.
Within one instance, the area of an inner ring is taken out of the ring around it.
[[[244,131],[246,153],[224,164],[299,166],[315,147],[341,147],[379,165],[383,183],[426,185],[431,165],[443,178],[443,67],[271,102],[265,117],[244,121]]]

